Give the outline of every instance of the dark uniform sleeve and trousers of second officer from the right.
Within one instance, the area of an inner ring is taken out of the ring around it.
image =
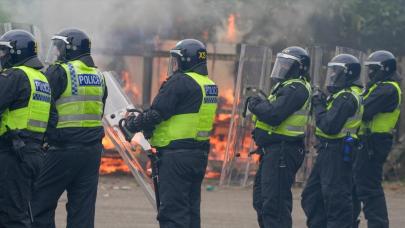
[[[327,110],[326,101],[313,99],[316,126],[338,134],[357,111],[357,100],[342,93]],[[302,192],[302,208],[310,228],[348,228],[352,218],[352,163],[343,160],[343,139],[318,137],[318,157]]]

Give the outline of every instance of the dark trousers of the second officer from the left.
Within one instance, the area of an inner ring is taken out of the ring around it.
[[[55,228],[55,209],[67,191],[67,227],[93,228],[102,145],[52,148],[35,183],[35,228]]]

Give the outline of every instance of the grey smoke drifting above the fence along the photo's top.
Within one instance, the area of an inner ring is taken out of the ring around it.
[[[39,27],[43,44],[66,27],[85,30],[95,48],[197,38],[224,42],[232,14],[236,38],[275,47],[315,42],[314,15],[331,0],[0,0],[13,22]],[[229,40],[229,39],[228,39]]]

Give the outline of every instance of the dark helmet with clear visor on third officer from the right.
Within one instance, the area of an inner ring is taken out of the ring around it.
[[[301,47],[288,47],[277,54],[271,78],[277,81],[306,77],[308,78],[311,59]]]

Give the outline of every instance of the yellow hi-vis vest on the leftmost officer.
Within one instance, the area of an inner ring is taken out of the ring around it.
[[[48,126],[51,102],[51,89],[46,77],[39,71],[27,66],[13,67],[24,71],[31,94],[28,105],[15,110],[7,109],[1,118],[0,135],[10,130],[28,130],[44,133]]]

